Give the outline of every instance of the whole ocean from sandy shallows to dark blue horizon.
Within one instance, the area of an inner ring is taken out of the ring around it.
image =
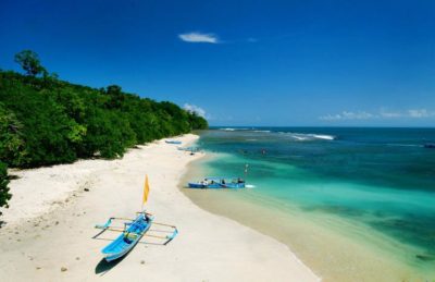
[[[215,127],[188,177],[201,207],[287,244],[325,281],[435,280],[435,128]]]

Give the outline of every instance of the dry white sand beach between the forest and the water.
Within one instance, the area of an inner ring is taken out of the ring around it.
[[[197,138],[175,139],[186,145]],[[319,281],[286,245],[200,209],[179,191],[187,164],[202,156],[159,140],[119,160],[12,171],[18,179],[0,218],[1,281]],[[124,259],[105,263],[100,249],[117,234],[92,238],[99,232],[94,225],[133,217],[145,174],[147,210],[179,234],[167,245],[145,237]]]

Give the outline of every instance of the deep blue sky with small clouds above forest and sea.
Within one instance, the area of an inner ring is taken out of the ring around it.
[[[211,125],[435,125],[435,1],[11,1],[0,68],[197,108]]]

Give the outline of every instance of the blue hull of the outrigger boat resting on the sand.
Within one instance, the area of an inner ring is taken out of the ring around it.
[[[151,226],[152,218],[145,213],[139,214],[112,243],[107,245],[101,253],[107,261],[112,261],[125,256],[140,241]]]

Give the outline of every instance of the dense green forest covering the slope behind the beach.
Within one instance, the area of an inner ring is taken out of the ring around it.
[[[194,112],[116,85],[96,89],[60,81],[32,51],[15,61],[26,75],[0,71],[0,160],[10,167],[116,158],[134,145],[208,126]]]

